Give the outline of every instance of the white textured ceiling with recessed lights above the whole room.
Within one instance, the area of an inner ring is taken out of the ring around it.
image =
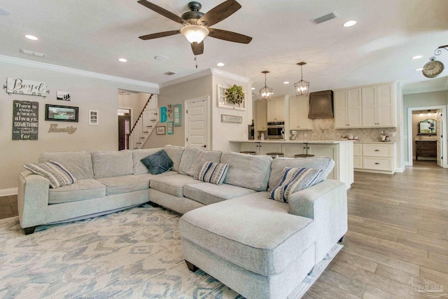
[[[153,0],[181,15],[188,0]],[[202,1],[201,11],[223,0]],[[405,93],[448,90],[448,69],[438,78],[420,71],[438,46],[448,44],[447,0],[239,0],[242,8],[213,28],[253,37],[248,45],[207,37],[204,54],[194,55],[179,35],[142,41],[138,36],[180,29],[134,0],[0,0],[0,55],[164,84],[209,68],[250,78],[254,91],[267,85],[274,95],[293,95],[304,66],[310,90],[400,81]],[[335,11],[338,18],[314,25],[310,19]],[[357,25],[342,27],[347,20]],[[38,41],[24,34],[38,36]],[[34,57],[20,49],[45,53]],[[156,55],[169,57],[158,61]],[[411,60],[423,55],[420,60]],[[127,63],[118,62],[119,57]],[[448,51],[437,60],[448,68]],[[225,63],[216,67],[217,62]],[[176,72],[173,76],[164,75]],[[289,81],[285,85],[283,81]]]

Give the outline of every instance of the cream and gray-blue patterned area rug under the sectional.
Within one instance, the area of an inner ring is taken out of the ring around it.
[[[141,205],[25,236],[0,220],[0,298],[242,298],[181,256],[179,214]],[[337,244],[290,296],[300,298]]]

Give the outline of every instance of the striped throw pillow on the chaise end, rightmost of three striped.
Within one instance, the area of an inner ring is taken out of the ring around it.
[[[285,167],[279,183],[272,189],[269,198],[279,202],[288,202],[289,195],[313,186],[321,172],[322,169],[317,168]]]

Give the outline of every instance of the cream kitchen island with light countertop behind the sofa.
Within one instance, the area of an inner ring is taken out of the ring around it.
[[[352,140],[231,140],[239,144],[239,151],[253,151],[255,155],[283,153],[284,157],[294,158],[297,154],[327,157],[335,160],[335,168],[328,179],[346,184],[353,183],[353,141]]]

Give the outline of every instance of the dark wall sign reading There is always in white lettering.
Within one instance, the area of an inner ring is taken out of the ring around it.
[[[39,126],[39,103],[13,102],[13,140],[37,140]]]

